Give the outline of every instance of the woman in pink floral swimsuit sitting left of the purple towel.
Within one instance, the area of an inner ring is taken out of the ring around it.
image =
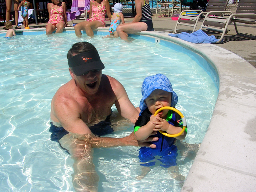
[[[55,28],[56,33],[62,33],[65,26],[67,26],[66,3],[60,0],[52,0],[53,3],[48,3],[47,8],[49,12],[49,21],[46,25],[46,34],[52,34]]]

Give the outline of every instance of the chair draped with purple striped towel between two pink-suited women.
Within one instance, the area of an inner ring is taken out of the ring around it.
[[[90,0],[72,0],[71,11],[67,12],[68,21],[86,19],[90,10]]]

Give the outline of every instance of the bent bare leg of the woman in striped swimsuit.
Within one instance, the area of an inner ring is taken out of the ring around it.
[[[116,31],[121,39],[127,41],[127,33],[137,33],[141,31],[147,30],[147,24],[143,22],[137,22],[137,23],[125,23],[122,25],[118,25],[116,28]]]

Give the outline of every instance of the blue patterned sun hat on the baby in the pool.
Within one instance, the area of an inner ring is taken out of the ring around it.
[[[175,107],[178,102],[177,94],[172,90],[172,84],[167,76],[163,74],[156,74],[146,77],[141,87],[142,99],[140,101],[140,115],[147,108],[145,99],[156,89],[161,89],[172,93],[171,107]]]

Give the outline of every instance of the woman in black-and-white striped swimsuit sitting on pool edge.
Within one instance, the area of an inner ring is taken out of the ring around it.
[[[148,0],[135,0],[136,16],[132,23],[121,24],[116,31],[121,39],[127,41],[127,33],[137,33],[140,31],[152,31],[153,23]]]

